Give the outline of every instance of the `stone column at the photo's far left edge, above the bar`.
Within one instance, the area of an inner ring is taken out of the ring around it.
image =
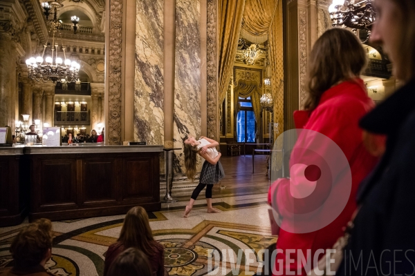
[[[0,126],[12,126],[15,119],[12,106],[15,87],[12,87],[12,79],[16,71],[12,68],[15,68],[16,51],[12,44],[8,34],[0,34]]]

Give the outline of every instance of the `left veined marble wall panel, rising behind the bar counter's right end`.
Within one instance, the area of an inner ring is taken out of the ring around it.
[[[134,141],[163,145],[163,0],[136,3]]]

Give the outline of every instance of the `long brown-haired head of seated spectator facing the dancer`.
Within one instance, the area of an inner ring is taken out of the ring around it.
[[[154,252],[151,245],[153,241],[147,212],[140,206],[131,208],[125,215],[118,242],[121,242],[124,248],[136,247],[151,255]]]

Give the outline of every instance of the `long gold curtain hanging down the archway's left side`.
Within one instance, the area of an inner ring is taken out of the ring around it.
[[[237,55],[239,31],[245,0],[222,0],[219,6],[219,104],[228,91],[234,59]]]

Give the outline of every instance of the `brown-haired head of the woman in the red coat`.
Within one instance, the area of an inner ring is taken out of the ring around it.
[[[356,79],[366,64],[367,55],[356,34],[342,28],[324,32],[309,56],[304,109],[314,110],[326,90],[342,81]]]

